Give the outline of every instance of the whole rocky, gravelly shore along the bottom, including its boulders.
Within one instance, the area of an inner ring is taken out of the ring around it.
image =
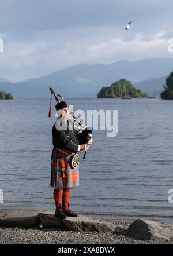
[[[0,210],[0,244],[173,244],[172,231],[172,225],[151,220],[61,220],[54,211]]]

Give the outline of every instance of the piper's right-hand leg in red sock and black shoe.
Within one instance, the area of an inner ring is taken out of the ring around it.
[[[63,195],[62,195],[62,210],[63,213],[67,216],[70,217],[77,217],[78,214],[77,213],[73,213],[73,211],[71,211],[69,209],[69,200],[70,200],[70,195],[71,195],[71,188],[63,188]]]

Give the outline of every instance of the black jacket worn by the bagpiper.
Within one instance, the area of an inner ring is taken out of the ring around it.
[[[67,149],[72,152],[78,151],[78,137],[76,130],[57,130],[56,123],[52,127],[52,142],[54,148]]]

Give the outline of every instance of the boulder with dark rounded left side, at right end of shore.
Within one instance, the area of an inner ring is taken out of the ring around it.
[[[129,226],[128,233],[142,240],[171,240],[173,225],[151,220],[136,220]]]

